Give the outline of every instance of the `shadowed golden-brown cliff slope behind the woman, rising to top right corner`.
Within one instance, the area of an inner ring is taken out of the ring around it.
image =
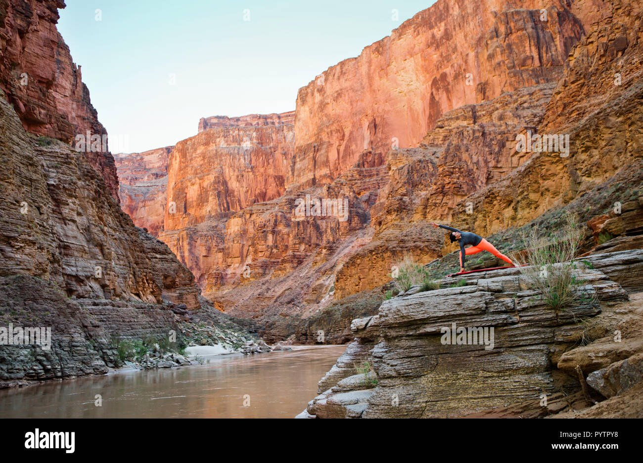
[[[604,8],[557,83],[449,111],[420,148],[390,152],[392,181],[372,211],[374,241],[338,274],[338,294],[385,283],[392,256],[383,249],[410,252],[422,263],[455,249],[446,242],[435,246],[430,220],[490,236],[583,195],[590,197],[583,207],[593,208],[603,201],[592,201],[593,189],[619,171],[634,174],[629,166],[640,164],[641,153],[635,135],[641,124],[640,11],[639,4],[619,2]],[[569,135],[569,152],[519,151],[516,135],[527,130]],[[613,193],[611,204],[635,199],[643,186],[637,175],[624,177],[626,187]],[[420,229],[426,231],[421,245],[407,247],[397,238]],[[373,279],[356,276],[365,268],[374,269]]]

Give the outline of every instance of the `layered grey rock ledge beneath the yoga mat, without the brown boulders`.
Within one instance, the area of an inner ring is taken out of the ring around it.
[[[591,319],[601,304],[625,301],[628,295],[601,272],[577,272],[588,282],[581,290],[595,294],[597,301],[562,311],[548,308],[527,289],[515,268],[446,278],[442,289],[418,292],[414,287],[384,301],[374,317],[353,321],[356,340],[320,381],[320,396],[308,413],[456,417],[579,389],[572,376],[556,369],[561,353],[583,335],[577,320]],[[467,285],[449,287],[458,279]],[[453,324],[455,333],[467,329],[460,338],[464,342],[448,335]],[[482,328],[477,341],[469,328]],[[354,378],[365,362],[376,374],[376,385]],[[360,404],[362,412],[356,407]]]

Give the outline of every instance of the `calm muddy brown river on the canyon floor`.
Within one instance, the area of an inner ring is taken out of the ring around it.
[[[48,382],[0,390],[0,417],[292,418],[345,345],[229,354],[203,365]],[[96,395],[102,403],[96,405]]]

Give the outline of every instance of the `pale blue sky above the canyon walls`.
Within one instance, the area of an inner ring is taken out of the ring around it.
[[[294,110],[300,87],[433,3],[66,0],[58,30],[111,151],[141,152],[202,117]]]

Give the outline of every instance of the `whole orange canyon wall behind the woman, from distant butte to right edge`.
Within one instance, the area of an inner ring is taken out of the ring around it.
[[[547,214],[556,229],[578,195],[583,221],[636,199],[640,170],[625,166],[640,160],[639,11],[438,1],[302,87],[294,112],[201,118],[168,154],[166,197],[121,201],[219,310],[273,341],[348,340],[397,259],[455,250],[432,220],[513,252],[518,231]],[[620,85],[615,66],[628,69]],[[602,132],[587,134],[591,114]],[[608,134],[612,121],[629,129]],[[528,133],[571,134],[568,156],[522,150]],[[608,198],[602,185],[619,180],[627,195]],[[296,216],[307,196],[348,199],[349,220]]]

